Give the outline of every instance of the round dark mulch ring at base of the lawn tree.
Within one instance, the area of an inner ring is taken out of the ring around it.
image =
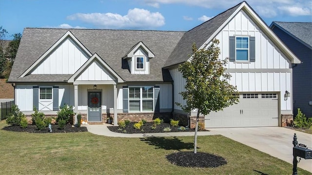
[[[208,153],[178,152],[166,157],[172,164],[182,167],[215,168],[227,164],[225,158]]]

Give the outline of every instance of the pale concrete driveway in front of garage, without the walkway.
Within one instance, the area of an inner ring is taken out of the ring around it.
[[[312,135],[283,127],[214,128],[209,130],[291,164],[294,133],[297,135],[298,143],[305,144],[312,149]],[[297,159],[299,160],[299,158]],[[312,159],[302,158],[297,166],[312,172]],[[292,169],[292,167],[289,168]]]

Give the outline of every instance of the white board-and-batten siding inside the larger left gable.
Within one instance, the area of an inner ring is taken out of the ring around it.
[[[88,58],[72,39],[67,38],[31,74],[74,74]]]

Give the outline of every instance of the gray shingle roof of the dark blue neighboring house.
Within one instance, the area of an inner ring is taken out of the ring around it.
[[[273,21],[277,27],[280,27],[297,39],[310,45],[312,47],[312,22],[276,22]]]

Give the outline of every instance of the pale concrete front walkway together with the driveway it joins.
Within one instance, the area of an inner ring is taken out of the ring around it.
[[[113,137],[144,137],[144,136],[194,136],[194,132],[180,133],[149,133],[149,134],[123,134],[111,132],[107,126],[102,125],[81,125],[88,128],[90,133],[100,136]],[[312,149],[312,135],[297,132],[283,127],[254,127],[254,128],[214,128],[209,132],[198,132],[198,136],[222,135],[238,141],[247,146],[253,147],[261,152],[277,157],[292,164],[292,140],[296,133],[298,143],[302,143]],[[297,158],[299,160],[299,158]],[[301,159],[298,167],[312,172],[312,159]],[[290,167],[292,169],[292,166]]]

